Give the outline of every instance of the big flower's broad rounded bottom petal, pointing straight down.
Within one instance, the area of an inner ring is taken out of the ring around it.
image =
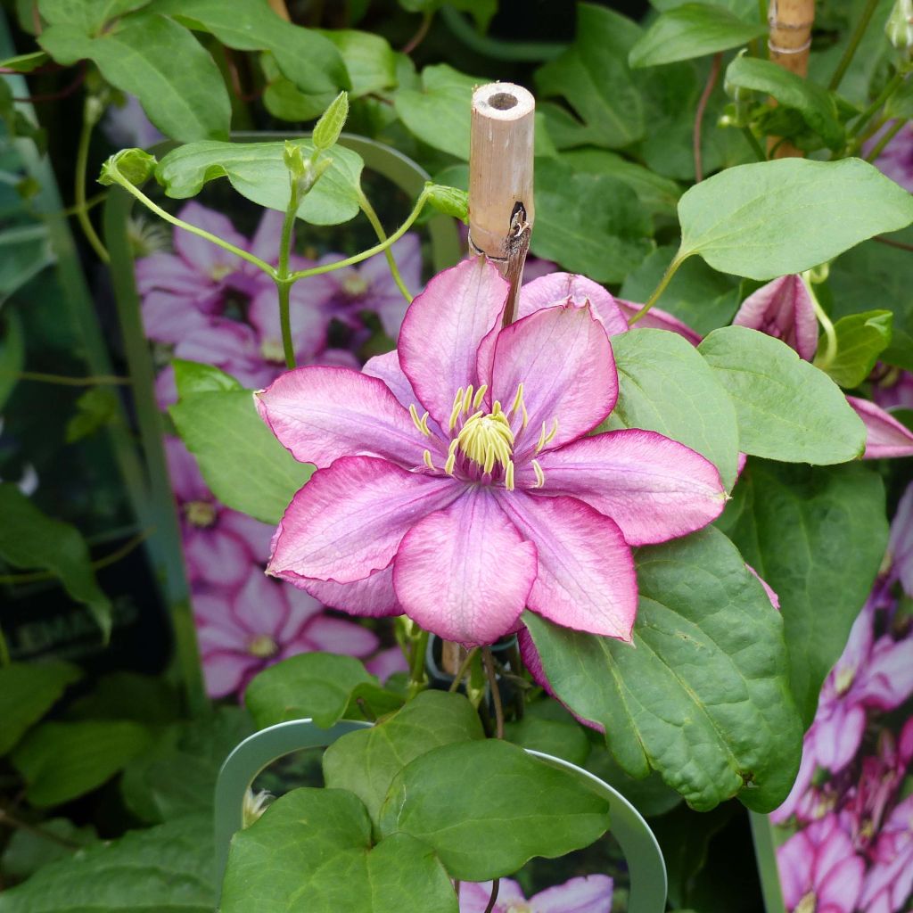
[[[485,488],[469,488],[406,533],[394,564],[405,614],[465,645],[509,633],[536,579],[536,550]]]

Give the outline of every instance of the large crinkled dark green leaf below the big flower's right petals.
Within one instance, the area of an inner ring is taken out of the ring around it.
[[[780,614],[712,528],[639,549],[637,581],[634,647],[524,614],[555,693],[631,776],[659,771],[698,811],[771,811],[802,753]]]

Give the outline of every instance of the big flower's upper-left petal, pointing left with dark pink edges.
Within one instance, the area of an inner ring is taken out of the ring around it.
[[[255,394],[255,402],[291,455],[318,467],[357,454],[417,467],[429,446],[385,383],[348,368],[297,368]]]

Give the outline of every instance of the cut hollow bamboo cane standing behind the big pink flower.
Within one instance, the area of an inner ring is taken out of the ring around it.
[[[514,319],[536,210],[532,199],[536,102],[512,82],[490,82],[472,94],[469,133],[469,250],[488,257],[510,283],[504,323]],[[466,657],[444,641],[441,666],[451,675]]]

